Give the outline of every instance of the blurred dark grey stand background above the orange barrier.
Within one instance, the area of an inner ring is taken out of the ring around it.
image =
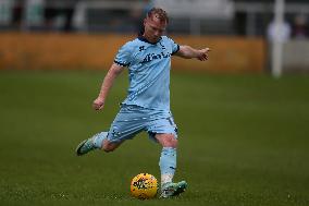
[[[0,29],[136,33],[153,5],[172,34],[264,36],[273,19],[273,0],[0,0]],[[307,37],[308,17],[308,0],[286,0],[293,36]]]

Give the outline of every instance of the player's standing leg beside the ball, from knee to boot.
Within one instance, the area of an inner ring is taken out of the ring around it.
[[[157,141],[162,145],[160,157],[161,170],[161,195],[160,197],[176,196],[183,193],[187,183],[185,181],[173,182],[176,169],[176,147],[177,138],[174,134],[156,134]]]

